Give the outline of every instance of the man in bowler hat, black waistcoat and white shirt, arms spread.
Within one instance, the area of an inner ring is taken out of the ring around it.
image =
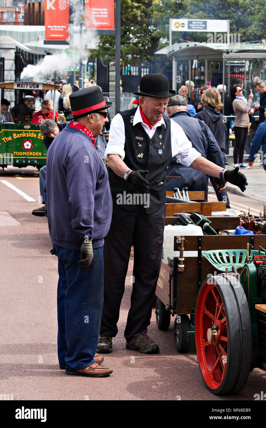
[[[133,92],[134,93],[134,92]],[[134,245],[133,289],[125,338],[127,349],[151,354],[158,345],[147,336],[152,301],[161,267],[166,214],[167,165],[176,156],[183,165],[234,182],[245,190],[246,177],[225,171],[193,149],[181,127],[164,116],[169,89],[163,74],[140,80],[139,106],[117,114],[105,151],[113,198],[113,215],[104,245],[104,306],[98,351],[111,352],[117,335],[131,244]]]

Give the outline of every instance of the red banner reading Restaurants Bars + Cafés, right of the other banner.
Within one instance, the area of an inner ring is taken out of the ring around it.
[[[85,0],[85,28],[114,30],[114,0]]]

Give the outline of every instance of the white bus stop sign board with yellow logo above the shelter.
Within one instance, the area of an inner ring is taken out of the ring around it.
[[[227,33],[228,23],[221,19],[172,19],[172,31],[222,31]]]

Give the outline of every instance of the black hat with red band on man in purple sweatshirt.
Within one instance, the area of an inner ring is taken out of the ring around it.
[[[79,89],[79,91],[69,95],[69,101],[72,111],[67,116],[67,120],[88,116],[88,114],[105,110],[113,104],[105,102],[99,86]]]

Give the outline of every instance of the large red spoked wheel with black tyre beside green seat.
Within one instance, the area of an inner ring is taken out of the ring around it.
[[[234,276],[211,276],[196,303],[195,339],[199,368],[213,394],[239,392],[251,367],[252,334],[248,302]]]

